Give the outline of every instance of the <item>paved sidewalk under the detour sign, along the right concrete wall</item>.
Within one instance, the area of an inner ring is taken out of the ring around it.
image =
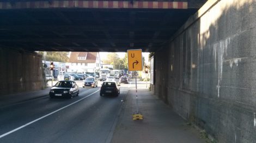
[[[149,89],[138,89],[138,107],[143,120],[132,120],[132,113],[137,111],[135,89],[127,93],[124,102],[112,143],[205,142],[200,139],[199,131],[188,126],[169,106],[151,95]]]

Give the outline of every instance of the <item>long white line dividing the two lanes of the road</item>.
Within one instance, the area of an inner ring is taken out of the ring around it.
[[[99,92],[99,90],[97,90],[96,92]],[[94,93],[96,93],[96,92],[94,92]],[[49,113],[49,114],[47,114],[47,115],[44,115],[44,116],[42,116],[41,118],[35,119],[34,121],[28,122],[28,123],[25,124],[25,125],[22,125],[22,126],[20,126],[20,127],[18,127],[18,128],[15,128],[15,129],[13,129],[13,130],[10,131],[10,132],[7,132],[7,133],[5,133],[5,134],[2,134],[2,135],[0,135],[0,139],[3,138],[3,137],[5,137],[5,136],[8,135],[8,134],[11,134],[11,133],[13,133],[13,132],[18,131],[19,129],[22,129],[22,128],[28,126],[28,125],[31,125],[31,124],[33,124],[33,123],[36,122],[36,121],[39,121],[39,120],[41,120],[41,119],[46,118],[47,116],[50,116],[50,115],[52,115],[52,114],[54,114],[54,113],[56,113],[56,112],[59,112],[59,111],[61,111],[62,109],[65,109],[66,107],[69,107],[69,106],[71,106],[71,105],[74,105],[75,103],[80,102],[81,100],[88,98],[89,96],[93,95],[94,93],[89,94],[89,95],[87,95],[86,97],[84,97],[84,98],[82,98],[82,99],[80,99],[80,100],[77,100],[76,102],[71,103],[70,105],[67,105],[67,106],[64,106],[64,107],[62,107],[62,108],[59,108],[58,110],[53,111],[52,113]]]

